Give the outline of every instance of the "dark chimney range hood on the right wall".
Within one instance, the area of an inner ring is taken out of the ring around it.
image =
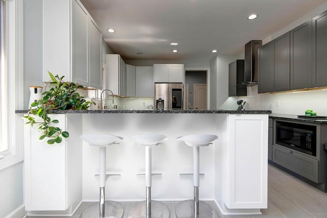
[[[244,82],[242,82],[242,86],[258,84],[258,49],[261,46],[262,40],[252,40],[245,44]]]

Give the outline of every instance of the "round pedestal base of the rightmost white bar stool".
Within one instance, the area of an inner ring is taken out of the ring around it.
[[[176,216],[178,218],[194,218],[194,201],[186,200],[176,206]],[[203,201],[199,201],[199,218],[219,217],[214,208]]]

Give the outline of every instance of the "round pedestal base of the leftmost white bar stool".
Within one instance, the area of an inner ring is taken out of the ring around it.
[[[99,218],[99,207],[99,202],[90,205],[83,211],[79,218]],[[124,215],[124,207],[118,202],[106,201],[104,214],[104,218],[122,218]]]

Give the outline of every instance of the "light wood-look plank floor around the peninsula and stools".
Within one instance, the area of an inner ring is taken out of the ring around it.
[[[201,190],[201,189],[200,189]],[[176,218],[175,207],[178,202],[164,202],[170,210],[170,218]],[[262,215],[222,215],[214,202],[207,202],[216,208],[222,218],[327,218],[327,193],[268,164],[268,208],[262,209]],[[90,203],[83,202],[72,218],[77,218]],[[122,202],[125,209],[123,218],[131,202]],[[40,216],[28,216],[41,218]],[[43,217],[42,217],[43,218]],[[44,217],[44,218],[49,218]],[[67,218],[67,216],[52,216]]]

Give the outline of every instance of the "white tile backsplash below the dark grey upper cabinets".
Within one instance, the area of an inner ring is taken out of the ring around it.
[[[318,116],[327,116],[327,88],[258,94],[258,85],[255,85],[247,87],[247,96],[238,97],[238,100],[240,99],[247,102],[244,107],[246,110],[271,110],[277,114],[305,115],[307,109],[312,109]]]

